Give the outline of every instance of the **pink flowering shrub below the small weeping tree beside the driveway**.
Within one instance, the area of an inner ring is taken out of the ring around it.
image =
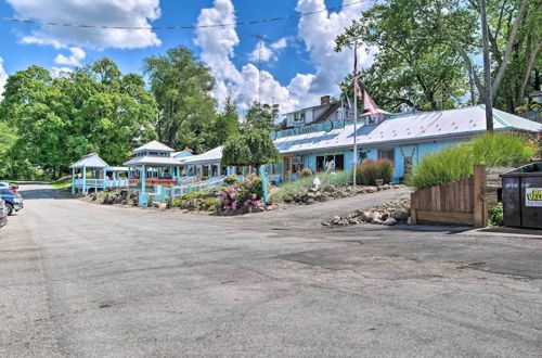
[[[263,195],[261,179],[258,177],[244,178],[231,187],[223,188],[219,195],[222,196],[223,209],[238,210],[243,207],[259,206]]]

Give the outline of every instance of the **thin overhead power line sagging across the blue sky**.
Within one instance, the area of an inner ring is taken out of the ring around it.
[[[343,5],[326,8],[324,10],[311,11],[300,14],[292,14],[282,17],[272,17],[272,18],[263,18],[263,20],[254,20],[254,21],[245,21],[237,22],[232,24],[212,24],[212,25],[199,25],[199,26],[101,26],[101,25],[86,25],[86,24],[67,24],[67,23],[55,23],[55,22],[46,22],[46,21],[37,21],[29,18],[16,18],[16,17],[0,17],[2,21],[10,21],[15,23],[25,23],[25,24],[36,24],[36,25],[49,25],[49,26],[63,26],[63,27],[80,27],[80,28],[101,28],[101,29],[145,29],[145,30],[172,30],[172,29],[195,29],[195,28],[212,28],[212,27],[229,27],[229,26],[241,26],[241,25],[256,25],[256,24],[264,24],[272,23],[278,21],[285,21],[291,18],[299,18],[304,16],[310,16],[314,14],[319,14],[326,11],[335,11],[343,8],[353,7],[360,4],[362,2],[366,2],[367,0],[356,1],[350,3],[345,3]]]

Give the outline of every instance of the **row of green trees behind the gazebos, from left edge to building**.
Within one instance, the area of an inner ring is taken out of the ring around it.
[[[96,152],[109,165],[157,139],[202,153],[248,128],[268,130],[278,106],[253,103],[240,120],[232,95],[210,95],[210,68],[184,47],[143,62],[144,77],[102,59],[53,77],[30,66],[8,78],[0,102],[0,178],[55,179]]]

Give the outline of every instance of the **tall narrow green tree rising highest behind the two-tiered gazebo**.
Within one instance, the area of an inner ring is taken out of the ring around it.
[[[158,140],[171,148],[201,145],[201,133],[216,116],[210,68],[181,46],[145,59],[143,69],[158,103]]]

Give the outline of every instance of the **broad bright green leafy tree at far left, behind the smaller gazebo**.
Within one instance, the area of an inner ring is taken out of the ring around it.
[[[53,78],[30,66],[8,78],[0,118],[16,140],[9,150],[10,176],[48,178],[68,171],[81,155],[98,152],[112,165],[155,138],[157,105],[139,75],[122,76],[103,59]]]

